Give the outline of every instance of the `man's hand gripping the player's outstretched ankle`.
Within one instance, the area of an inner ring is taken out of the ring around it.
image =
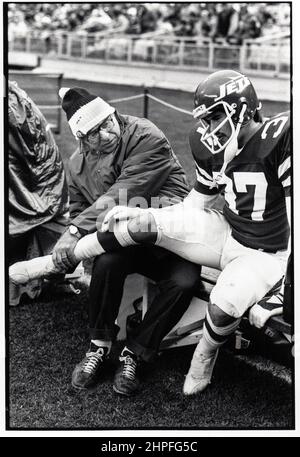
[[[78,236],[71,235],[67,230],[54,246],[52,260],[58,272],[65,272],[77,265],[74,249],[78,240]]]

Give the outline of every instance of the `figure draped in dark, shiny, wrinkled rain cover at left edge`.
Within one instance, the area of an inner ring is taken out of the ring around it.
[[[68,224],[68,187],[49,124],[16,82],[8,82],[9,263],[52,252]],[[41,281],[26,290],[10,283],[10,304],[23,292],[37,297]]]

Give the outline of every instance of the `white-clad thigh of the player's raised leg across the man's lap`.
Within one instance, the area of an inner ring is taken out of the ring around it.
[[[151,209],[158,236],[156,244],[191,262],[220,268],[229,226],[215,210],[187,210],[184,205]]]

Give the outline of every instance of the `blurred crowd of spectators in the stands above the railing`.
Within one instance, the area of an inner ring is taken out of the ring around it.
[[[289,28],[288,3],[10,3],[8,12],[9,37],[113,32],[242,44]]]

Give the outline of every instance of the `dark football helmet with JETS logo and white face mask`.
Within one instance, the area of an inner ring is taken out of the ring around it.
[[[237,138],[241,126],[253,119],[260,105],[250,80],[233,70],[217,71],[202,81],[194,102],[200,140],[212,154]]]

